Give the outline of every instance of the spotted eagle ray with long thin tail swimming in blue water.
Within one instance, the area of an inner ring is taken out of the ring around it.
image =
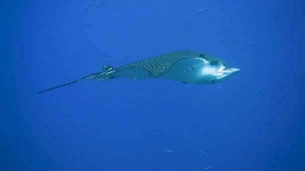
[[[103,65],[103,71],[101,72],[92,73],[81,79],[37,93],[91,78],[96,80],[163,78],[183,83],[212,84],[224,81],[238,71],[239,68],[230,68],[223,60],[202,52],[176,51],[135,61],[120,67]]]

